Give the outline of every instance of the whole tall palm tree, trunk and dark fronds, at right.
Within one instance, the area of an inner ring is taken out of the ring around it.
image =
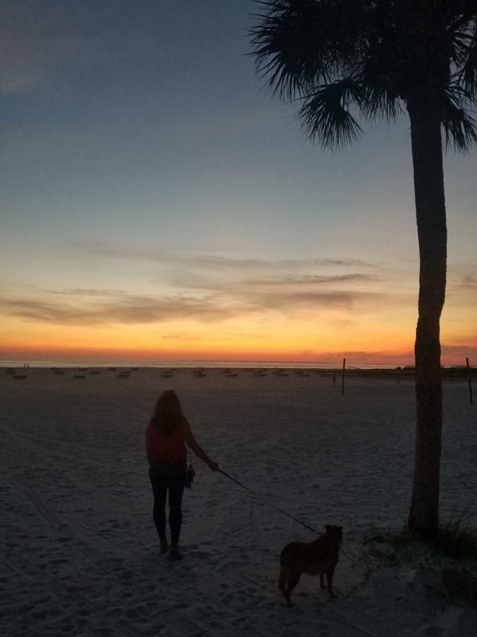
[[[437,533],[442,439],[440,314],[447,228],[442,145],[477,142],[477,0],[264,0],[252,28],[257,72],[298,101],[307,135],[343,147],[357,117],[407,111],[420,254],[417,432],[409,527]],[[444,138],[444,139],[442,139]]]

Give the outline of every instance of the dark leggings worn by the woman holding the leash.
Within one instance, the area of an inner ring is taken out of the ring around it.
[[[155,528],[161,542],[167,541],[165,534],[165,500],[169,491],[170,541],[177,544],[182,526],[182,494],[187,470],[185,460],[177,462],[150,462],[149,478],[153,486]]]

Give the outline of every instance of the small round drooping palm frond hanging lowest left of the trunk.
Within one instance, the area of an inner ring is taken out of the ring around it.
[[[318,86],[300,108],[299,117],[307,137],[323,148],[342,148],[358,140],[361,127],[349,108],[362,108],[363,89],[353,79],[345,78]]]

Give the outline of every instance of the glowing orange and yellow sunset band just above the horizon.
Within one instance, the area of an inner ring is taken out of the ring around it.
[[[350,294],[349,290],[347,294]],[[142,299],[143,306],[144,301]],[[114,320],[114,316],[101,315],[105,308],[95,297],[93,301],[61,306],[62,311],[68,309],[77,314],[69,317],[66,324],[61,324],[59,319],[57,322],[47,320],[47,316],[8,316],[3,326],[2,357],[33,361],[130,358],[338,363],[346,355],[351,365],[408,365],[413,361],[416,314],[413,294],[383,290],[366,299],[350,301],[340,297],[331,302],[332,307],[326,307],[324,299],[321,302],[313,299],[311,304],[307,299],[298,309],[297,299],[290,309],[282,294],[273,303],[275,306],[269,307],[272,304],[269,297],[267,306],[257,301],[257,306],[250,310],[243,299],[245,306],[239,306],[239,299],[235,299],[233,311],[226,319],[220,318],[219,304],[208,307],[211,315],[206,313],[206,318],[186,315],[155,321],[151,316],[147,322],[134,322],[131,318],[131,323],[124,324]],[[32,307],[30,304],[30,313]],[[55,307],[59,311],[59,306]],[[124,305],[122,307],[124,309]],[[11,314],[15,314],[14,308],[20,314],[14,302],[10,306]],[[134,311],[134,308],[130,309]],[[47,303],[37,309],[39,314],[47,311],[53,311]],[[199,312],[198,307],[196,311]],[[82,315],[84,319],[81,319]],[[88,316],[92,315],[95,318],[89,320],[93,324],[88,325]],[[473,340],[476,323],[475,311],[467,308],[463,314],[459,306],[448,304],[442,321],[444,365],[461,365],[463,360],[465,362],[466,352],[476,351]],[[464,347],[462,335],[467,337]]]

